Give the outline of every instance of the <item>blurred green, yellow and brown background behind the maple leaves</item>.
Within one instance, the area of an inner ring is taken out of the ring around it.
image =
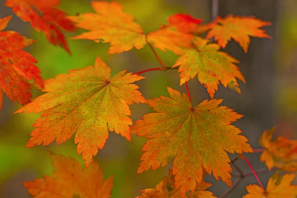
[[[213,3],[218,2],[218,14],[226,16],[254,15],[272,26],[265,27],[273,39],[251,39],[247,54],[234,41],[225,49],[239,59],[247,83],[240,83],[242,94],[219,87],[215,98],[223,98],[223,105],[227,105],[245,116],[235,122],[243,134],[247,136],[253,148],[260,148],[258,139],[262,132],[277,126],[276,135],[283,135],[296,139],[297,127],[297,1],[296,0],[116,0],[124,10],[133,16],[143,27],[145,32],[158,29],[167,24],[167,17],[174,13],[188,13],[194,17],[209,22],[213,15]],[[5,0],[0,0],[0,18],[13,14],[12,10],[4,6]],[[69,15],[76,13],[93,12],[90,0],[61,0],[63,10]],[[215,9],[214,9],[215,10]],[[54,78],[70,69],[84,68],[94,65],[96,56],[99,56],[112,68],[112,75],[127,69],[129,72],[138,72],[148,68],[158,67],[159,63],[149,47],[133,49],[121,54],[107,55],[109,44],[97,44],[88,40],[68,40],[73,53],[69,56],[63,49],[49,45],[43,34],[33,30],[29,23],[13,16],[5,30],[20,32],[28,38],[35,39],[36,43],[25,50],[32,53],[39,61],[38,67],[42,70],[44,79]],[[82,30],[80,30],[82,32]],[[78,33],[66,34],[72,37]],[[177,55],[156,49],[164,63],[174,64]],[[143,74],[146,79],[137,82],[140,91],[147,99],[159,96],[168,96],[166,86],[181,92],[186,92],[185,86],[179,86],[177,70],[166,72],[151,71]],[[210,99],[203,86],[197,79],[189,82],[192,103],[197,105],[204,99]],[[34,90],[34,97],[41,95]],[[51,175],[53,168],[47,150],[72,156],[82,165],[82,157],[76,152],[72,137],[62,145],[52,143],[47,147],[36,146],[25,149],[25,145],[33,130],[32,124],[40,113],[13,114],[20,107],[4,96],[3,108],[0,111],[0,198],[31,198],[23,187],[23,181]],[[153,112],[146,104],[130,105],[133,121],[142,115]],[[105,147],[99,150],[96,160],[103,169],[104,177],[114,175],[112,198],[133,198],[140,195],[140,190],[154,188],[164,176],[168,174],[169,165],[154,171],[148,170],[136,174],[141,148],[145,138],[133,136],[132,142],[123,137],[110,133]],[[246,154],[247,159],[257,170],[264,167],[259,162],[260,153]],[[230,155],[233,158],[235,155]],[[246,172],[249,168],[244,161],[238,165]],[[260,175],[260,180],[266,186],[272,173]],[[206,176],[206,181],[214,183],[209,189],[220,197],[229,187],[216,182],[212,176]],[[235,181],[235,179],[233,180]],[[246,178],[228,198],[241,198],[246,194],[245,186],[256,184],[254,177]],[[295,182],[296,184],[296,182]]]

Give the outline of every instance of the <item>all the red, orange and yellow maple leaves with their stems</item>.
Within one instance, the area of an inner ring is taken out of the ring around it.
[[[24,105],[14,113],[42,112],[33,124],[35,129],[26,148],[46,146],[54,141],[60,145],[75,134],[77,152],[82,153],[86,166],[83,169],[71,157],[50,153],[55,168],[53,176],[24,182],[28,192],[36,198],[72,198],[76,195],[109,198],[113,176],[103,181],[102,170],[94,161],[109,132],[128,141],[133,134],[148,139],[137,173],[173,161],[169,177],[164,176],[161,182],[156,182],[154,189],[142,190],[138,198],[216,198],[206,190],[212,184],[203,181],[205,174],[212,174],[216,180],[231,187],[231,164],[245,159],[244,153],[254,149],[245,134],[232,125],[243,115],[220,105],[222,99],[214,99],[219,84],[241,94],[238,80],[246,82],[237,66],[239,60],[221,48],[234,39],[247,52],[250,37],[270,38],[260,28],[271,23],[252,16],[228,15],[202,24],[201,19],[177,13],[168,17],[168,24],[145,33],[119,3],[92,1],[94,12],[76,16],[68,16],[58,9],[59,3],[59,0],[6,0],[5,5],[36,31],[43,32],[50,44],[60,46],[69,54],[71,51],[63,31],[74,32],[81,28],[85,32],[70,39],[109,43],[108,54],[148,45],[161,67],[134,74],[124,70],[111,76],[111,68],[97,57],[94,66],[73,69],[68,74],[43,81],[41,71],[35,65],[37,60],[23,50],[34,40],[17,32],[4,31],[11,16],[0,19],[0,108],[4,93]],[[204,32],[206,37],[203,38],[201,33]],[[167,67],[154,48],[170,50],[180,57],[174,65]],[[167,87],[170,97],[145,99],[135,82],[145,78],[142,73],[168,68],[178,68],[180,82],[177,83],[185,84],[187,94]],[[210,100],[191,100],[187,82],[195,77],[209,93]],[[31,101],[29,91],[32,87],[44,94]],[[128,105],[140,102],[147,103],[155,112],[144,115],[133,124]],[[276,167],[296,172],[297,141],[285,137],[272,141],[274,130],[265,131],[260,138],[263,147],[260,160],[269,170]],[[238,153],[238,157],[231,160],[228,153]],[[294,177],[295,174],[289,173],[275,174],[269,179],[266,190],[258,180],[260,186],[248,185],[244,198],[295,198],[297,186],[291,184]]]

